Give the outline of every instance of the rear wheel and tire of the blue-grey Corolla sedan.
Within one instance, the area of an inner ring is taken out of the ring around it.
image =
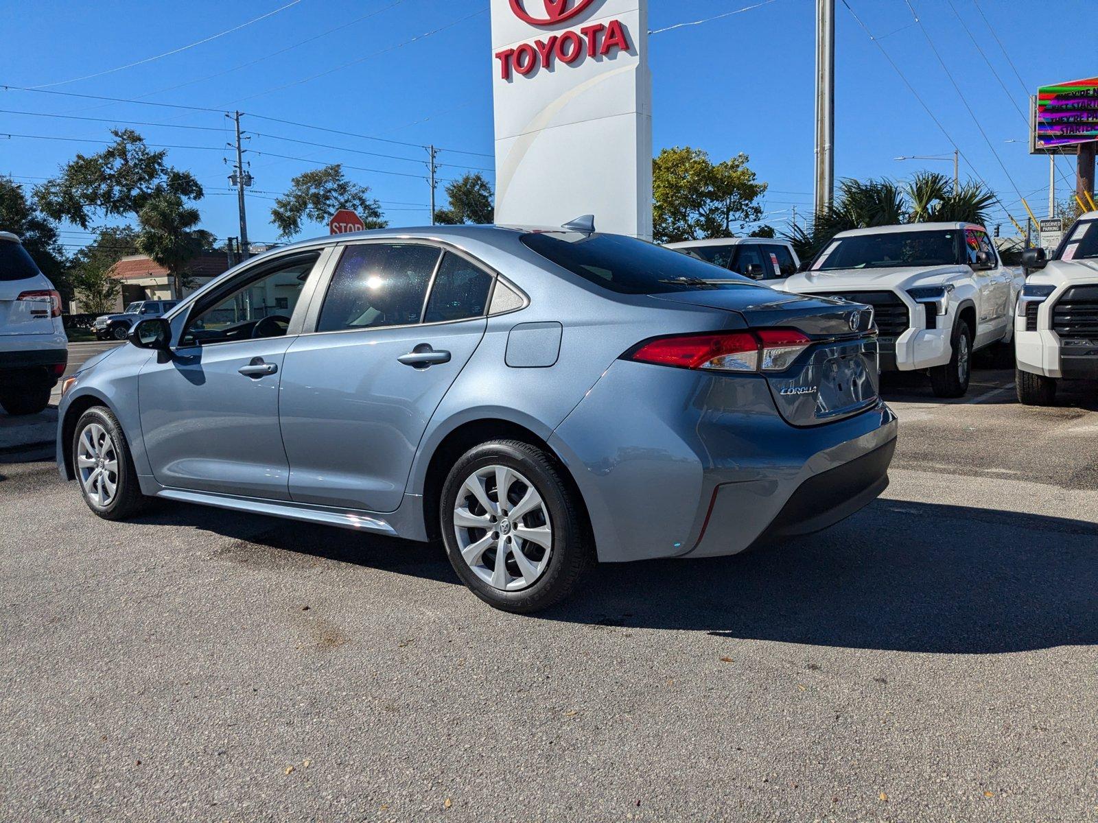
[[[470,449],[450,470],[439,505],[450,564],[497,609],[552,606],[594,559],[582,499],[556,461],[529,443],[493,440]]]

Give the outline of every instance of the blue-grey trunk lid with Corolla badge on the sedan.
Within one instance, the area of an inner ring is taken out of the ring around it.
[[[738,313],[750,328],[792,328],[813,343],[783,372],[763,372],[774,405],[794,426],[818,426],[876,404],[878,362],[871,306],[772,289],[654,294]]]

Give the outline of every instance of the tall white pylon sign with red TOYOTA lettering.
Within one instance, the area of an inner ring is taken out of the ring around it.
[[[491,0],[496,222],[652,236],[648,0]]]

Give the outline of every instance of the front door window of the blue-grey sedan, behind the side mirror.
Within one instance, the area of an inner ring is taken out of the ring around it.
[[[281,337],[290,327],[293,308],[317,257],[318,252],[296,256],[245,278],[234,292],[199,311],[187,324],[180,343],[209,346]]]

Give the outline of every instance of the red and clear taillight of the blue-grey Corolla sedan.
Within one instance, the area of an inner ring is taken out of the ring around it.
[[[629,360],[719,372],[781,372],[811,346],[795,329],[720,331],[658,337],[625,354]]]

